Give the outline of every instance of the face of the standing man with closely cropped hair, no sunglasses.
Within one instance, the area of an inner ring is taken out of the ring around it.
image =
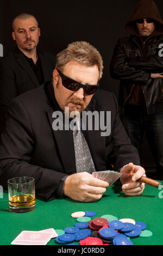
[[[12,38],[16,41],[17,47],[23,51],[32,51],[39,43],[40,28],[34,17],[27,20],[15,19]]]

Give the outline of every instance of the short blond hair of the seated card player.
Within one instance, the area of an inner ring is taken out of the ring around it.
[[[56,69],[63,70],[64,66],[70,62],[76,61],[85,66],[98,66],[99,79],[103,74],[103,59],[99,51],[85,41],[76,41],[67,45],[65,50],[57,54]]]

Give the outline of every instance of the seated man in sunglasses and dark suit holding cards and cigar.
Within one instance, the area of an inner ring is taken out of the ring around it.
[[[145,170],[139,166],[137,150],[118,117],[115,96],[97,90],[102,70],[103,60],[95,47],[73,42],[57,55],[52,82],[11,101],[0,145],[0,184],[4,189],[12,177],[32,176],[36,196],[45,200],[68,196],[91,202],[100,199],[109,186],[91,173],[108,170],[112,164],[122,173],[124,193],[142,193],[145,185],[136,180]],[[67,109],[68,124],[76,119],[73,129],[68,129]],[[92,122],[92,129],[86,124],[85,128],[80,125],[80,131],[77,115],[81,124],[84,111],[110,111],[111,121],[103,115]],[[95,129],[95,124],[103,121],[110,126],[105,136],[101,125]],[[129,177],[131,170],[133,178]]]

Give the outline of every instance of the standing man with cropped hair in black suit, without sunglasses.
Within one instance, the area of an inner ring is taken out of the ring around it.
[[[18,15],[12,22],[12,29],[17,46],[0,62],[0,133],[10,101],[49,81],[56,61],[53,54],[37,48],[41,34],[33,15]]]

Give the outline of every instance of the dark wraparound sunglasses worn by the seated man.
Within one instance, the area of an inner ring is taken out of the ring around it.
[[[59,75],[61,77],[62,85],[68,90],[77,92],[77,90],[79,90],[80,88],[83,88],[85,95],[91,95],[95,93],[98,89],[98,84],[96,85],[82,84],[73,80],[68,76],[65,76],[64,74],[62,74],[60,70],[57,69],[57,71],[59,72]]]

